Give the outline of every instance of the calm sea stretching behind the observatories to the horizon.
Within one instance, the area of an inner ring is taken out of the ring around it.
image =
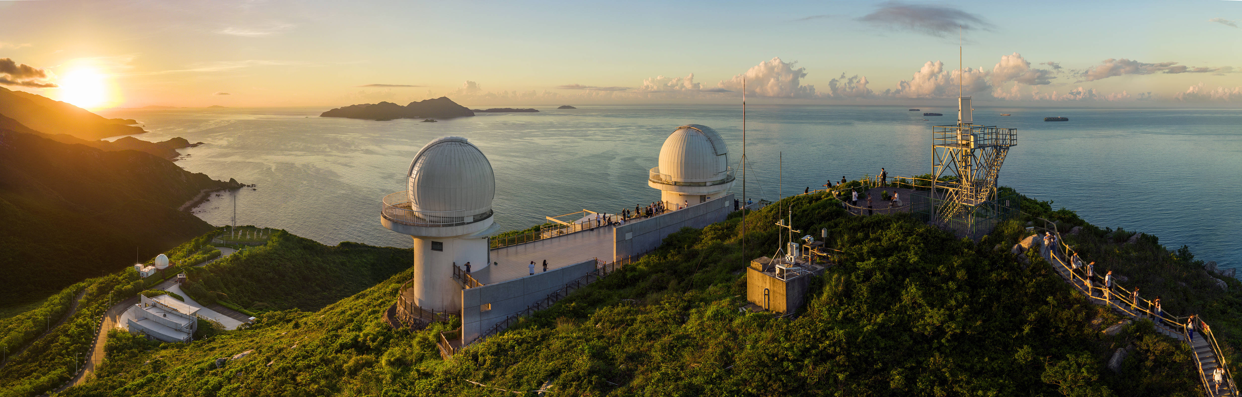
[[[886,167],[930,170],[930,125],[954,109],[920,107],[750,105],[748,192],[779,198],[841,176]],[[323,108],[116,110],[150,133],[204,141],[179,165],[214,179],[256,184],[237,196],[237,223],[284,228],[335,244],[409,247],[379,223],[380,198],[405,189],[405,171],[428,140],[469,138],[496,169],[496,217],[524,228],[580,210],[616,212],[658,200],[646,184],[664,138],[683,124],[719,132],[737,167],[737,105],[540,107],[540,113],[483,113],[419,123],[318,117]],[[1010,113],[1010,117],[1001,117]],[[1220,109],[976,108],[976,123],[1018,129],[1001,184],[1054,200],[1100,227],[1124,227],[1189,244],[1197,258],[1242,265],[1242,113]],[[1043,122],[1047,115],[1069,122]],[[784,158],[784,177],[779,159]],[[782,182],[781,182],[782,181]],[[782,187],[782,189],[781,189]],[[735,189],[740,191],[740,186]],[[232,216],[230,197],[195,210],[212,225]]]

